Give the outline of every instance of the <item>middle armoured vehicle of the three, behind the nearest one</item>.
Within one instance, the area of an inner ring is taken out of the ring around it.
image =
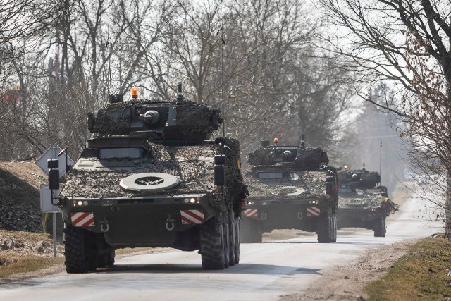
[[[300,146],[263,141],[251,152],[241,242],[261,242],[262,233],[274,229],[316,232],[318,242],[335,242],[338,179],[328,161],[325,151],[304,147],[303,140]]]

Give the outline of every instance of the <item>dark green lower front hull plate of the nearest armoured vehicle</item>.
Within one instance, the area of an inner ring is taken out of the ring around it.
[[[199,197],[200,202],[187,204],[185,199]],[[174,247],[180,250],[197,250],[199,240],[196,228],[217,214],[209,205],[206,195],[180,195],[173,197],[140,197],[135,199],[80,199],[87,206],[74,206],[67,199],[63,219],[75,227],[95,233],[104,233],[106,242],[113,248],[124,247]],[[198,214],[191,220],[182,214]],[[85,224],[80,215],[88,215]],[[89,223],[89,218],[93,219]],[[190,236],[190,242],[183,240]],[[181,243],[183,240],[184,243]]]

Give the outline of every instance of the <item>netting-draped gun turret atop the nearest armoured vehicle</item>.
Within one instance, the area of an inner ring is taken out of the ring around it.
[[[207,140],[223,121],[219,109],[190,102],[181,94],[176,102],[137,98],[123,102],[122,94],[110,95],[106,108],[87,116],[91,133],[163,142]]]

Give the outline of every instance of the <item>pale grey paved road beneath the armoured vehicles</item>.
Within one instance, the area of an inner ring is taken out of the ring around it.
[[[396,200],[395,200],[396,201]],[[302,293],[334,265],[352,262],[365,250],[435,233],[440,223],[416,219],[417,199],[407,199],[390,216],[387,236],[347,228],[335,243],[318,244],[316,235],[242,244],[240,264],[204,271],[197,252],[144,254],[116,260],[110,270],[91,274],[60,273],[0,285],[2,301],[48,300],[277,300]]]

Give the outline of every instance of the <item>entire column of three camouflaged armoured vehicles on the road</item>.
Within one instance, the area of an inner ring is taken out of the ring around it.
[[[239,142],[211,139],[220,110],[185,99],[180,82],[178,92],[175,102],[110,95],[87,114],[92,135],[64,183],[49,160],[68,273],[112,266],[125,247],[199,250],[204,269],[225,269],[240,262],[240,241],[261,242],[274,229],[316,232],[326,243],[343,227],[385,236],[397,205],[378,173],[338,172],[302,137],[299,146],[262,141],[242,174]]]

